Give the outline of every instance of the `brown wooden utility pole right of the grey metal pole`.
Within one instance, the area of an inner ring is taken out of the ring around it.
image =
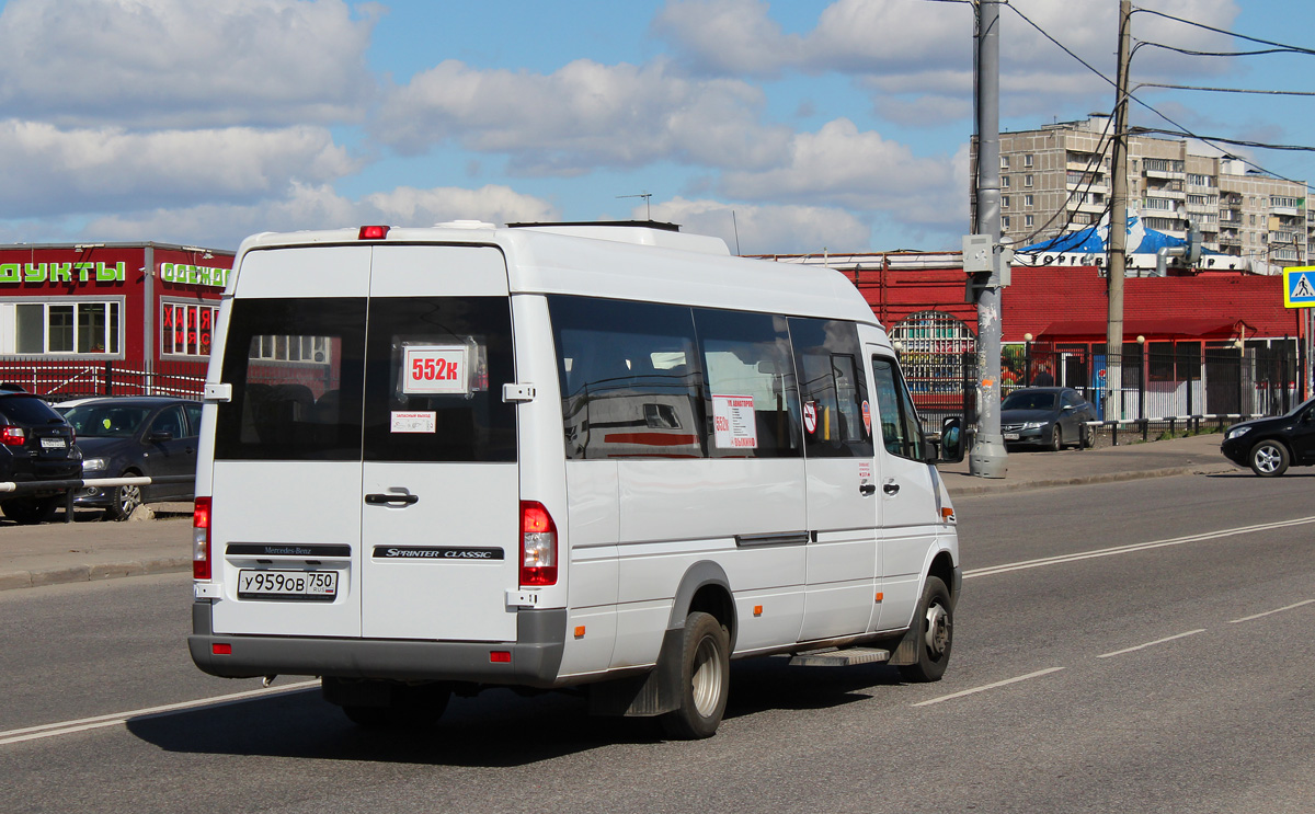
[[[1132,0],[1119,0],[1119,72],[1114,100],[1114,172],[1110,214],[1110,317],[1105,334],[1105,419],[1123,418],[1123,275],[1128,243],[1128,60],[1131,51]],[[1118,354],[1115,356],[1115,354]]]

